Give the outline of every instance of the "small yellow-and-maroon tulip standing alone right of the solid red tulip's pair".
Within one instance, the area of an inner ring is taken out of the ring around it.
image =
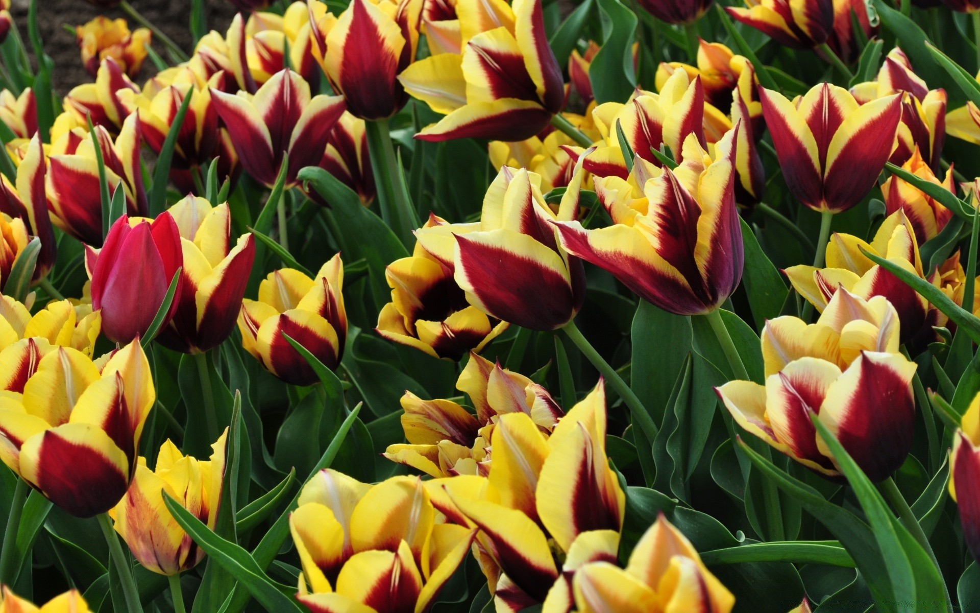
[[[245,299],[238,316],[242,346],[286,383],[312,385],[317,373],[286,340],[288,335],[329,369],[336,369],[347,340],[344,264],[334,255],[314,279],[284,268],[259,285],[259,299]]]

